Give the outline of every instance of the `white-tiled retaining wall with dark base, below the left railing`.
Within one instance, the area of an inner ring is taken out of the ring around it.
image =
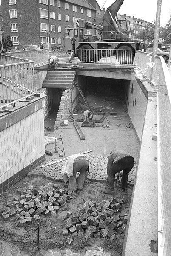
[[[44,100],[34,100],[0,118],[0,194],[45,159]]]

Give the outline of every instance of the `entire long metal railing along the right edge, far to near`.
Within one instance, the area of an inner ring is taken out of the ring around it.
[[[134,63],[158,86],[157,172],[158,172],[158,255],[171,255],[171,76],[160,56],[137,51]]]

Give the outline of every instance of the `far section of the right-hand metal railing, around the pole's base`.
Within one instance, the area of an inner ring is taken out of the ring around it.
[[[166,85],[164,74],[166,64],[162,57],[155,55],[152,62],[152,54],[137,50],[134,63],[151,82],[156,85]]]

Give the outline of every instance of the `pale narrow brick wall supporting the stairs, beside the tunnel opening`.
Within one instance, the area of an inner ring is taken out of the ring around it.
[[[69,109],[71,109],[71,89],[63,91],[60,106],[55,120],[54,129],[57,129],[64,119],[70,116]]]

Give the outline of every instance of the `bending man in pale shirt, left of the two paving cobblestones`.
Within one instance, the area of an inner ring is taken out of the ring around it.
[[[89,160],[82,154],[70,156],[62,168],[62,176],[65,183],[69,181],[68,189],[76,191],[83,189],[84,183],[88,177]],[[79,177],[76,179],[76,174]],[[68,178],[69,177],[69,178]]]

